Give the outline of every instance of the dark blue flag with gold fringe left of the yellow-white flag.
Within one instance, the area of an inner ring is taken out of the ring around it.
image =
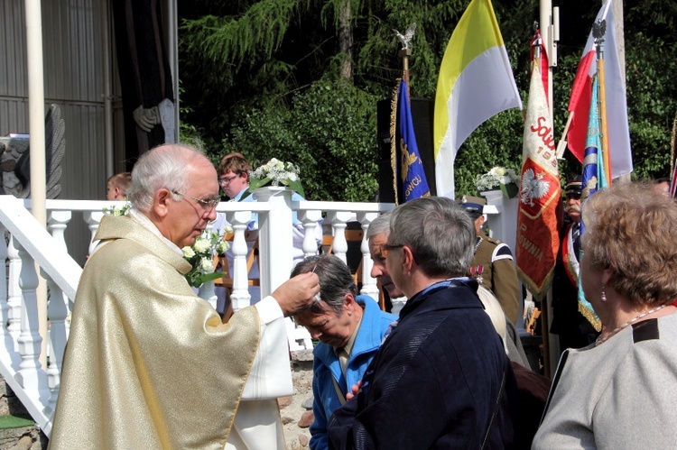
[[[395,203],[418,197],[428,197],[431,190],[425,178],[423,161],[413,133],[412,107],[409,104],[409,87],[403,79],[397,87],[397,123],[399,140],[394,148],[394,178],[396,183]]]

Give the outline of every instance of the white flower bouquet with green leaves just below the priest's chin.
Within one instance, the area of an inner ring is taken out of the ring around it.
[[[233,231],[229,226],[226,227],[226,233]],[[183,258],[190,262],[192,269],[186,273],[186,280],[193,288],[199,288],[207,281],[216,280],[223,274],[214,271],[212,262],[214,254],[223,255],[230,248],[223,236],[218,233],[202,232],[195,243],[191,246],[183,247]]]

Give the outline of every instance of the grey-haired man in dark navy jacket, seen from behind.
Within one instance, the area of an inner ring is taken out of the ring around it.
[[[333,448],[510,448],[515,375],[465,277],[475,226],[453,200],[420,197],[390,227],[385,265],[409,299],[357,398],[329,419]]]

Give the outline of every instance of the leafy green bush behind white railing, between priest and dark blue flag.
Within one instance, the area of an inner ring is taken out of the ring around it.
[[[288,110],[254,110],[222,142],[218,158],[242,152],[254,165],[271,157],[301,169],[313,200],[371,201],[376,194],[376,98],[323,78]]]

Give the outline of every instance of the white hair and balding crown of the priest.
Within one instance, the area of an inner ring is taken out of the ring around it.
[[[168,144],[145,152],[134,164],[132,186],[127,196],[136,209],[148,211],[158,189],[167,188],[172,198],[180,200],[174,192],[186,192],[186,172],[196,158],[206,158],[190,145]]]

